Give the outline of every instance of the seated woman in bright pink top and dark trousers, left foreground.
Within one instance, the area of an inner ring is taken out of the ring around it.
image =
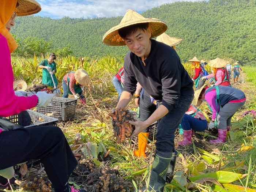
[[[4,83],[0,89],[0,116],[8,117],[35,106],[46,106],[54,94],[38,92],[30,97],[17,97],[13,90],[14,75],[11,55],[17,44],[9,32],[15,25],[15,16],[26,16],[39,12],[41,6],[35,0],[2,0],[0,6],[0,63],[4,73]],[[44,170],[56,192],[74,192],[69,187],[68,178],[77,165],[68,142],[59,127],[44,126],[10,130],[9,121],[0,119],[0,175],[12,178],[12,166],[31,159],[40,159]],[[12,124],[12,123],[11,123]],[[15,124],[15,126],[17,126]],[[13,127],[13,125],[11,126]],[[1,181],[3,181],[1,179]],[[7,180],[6,180],[7,182]],[[2,185],[7,185],[2,184]]]

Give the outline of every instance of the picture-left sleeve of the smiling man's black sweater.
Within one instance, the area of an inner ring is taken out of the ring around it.
[[[137,80],[133,76],[132,61],[128,52],[124,58],[124,91],[127,91],[133,95],[136,91]]]

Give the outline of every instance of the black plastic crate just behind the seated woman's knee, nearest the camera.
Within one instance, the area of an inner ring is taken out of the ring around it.
[[[56,126],[58,121],[57,118],[49,117],[32,110],[22,111],[19,114],[12,115],[6,119],[25,128],[46,125]]]

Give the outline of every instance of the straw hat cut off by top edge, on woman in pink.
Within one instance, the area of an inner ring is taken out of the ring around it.
[[[15,12],[18,16],[26,16],[36,14],[41,11],[41,5],[35,0],[18,0],[19,6]]]

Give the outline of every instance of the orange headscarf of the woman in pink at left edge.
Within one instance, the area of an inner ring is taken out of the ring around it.
[[[11,33],[5,28],[5,25],[11,18],[12,13],[16,8],[16,4],[17,0],[1,0],[0,6],[0,33],[7,39],[10,53],[12,53],[18,45]]]

